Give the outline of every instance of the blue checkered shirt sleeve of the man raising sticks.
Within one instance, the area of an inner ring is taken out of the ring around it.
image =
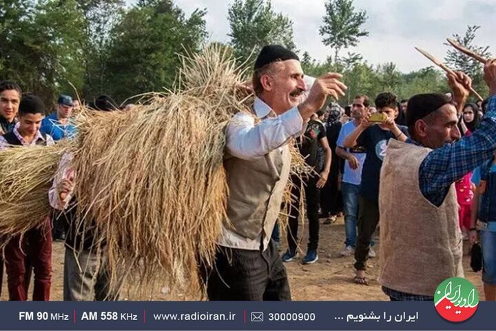
[[[434,205],[442,205],[451,184],[493,157],[496,151],[496,96],[490,97],[486,109],[473,134],[436,148],[422,161],[420,190]]]

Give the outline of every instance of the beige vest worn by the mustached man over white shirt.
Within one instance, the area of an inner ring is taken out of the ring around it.
[[[270,237],[289,178],[291,154],[289,146],[251,160],[227,157],[229,198],[225,227],[242,237],[255,239],[262,231]]]

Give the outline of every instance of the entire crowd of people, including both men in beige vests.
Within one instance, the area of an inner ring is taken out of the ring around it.
[[[214,265],[199,271],[210,300],[290,300],[284,263],[298,258],[297,208],[291,208],[287,250],[280,256],[282,196],[304,193],[309,223],[302,263],[318,261],[320,219],[344,214],[342,257],[354,255],[357,285],[368,285],[367,259],[380,258],[379,281],[392,301],[433,300],[444,279],[464,277],[463,239],[482,243],[485,297],[496,299],[496,61],[484,67],[484,103],[467,103],[471,79],[448,74],[450,94],[426,93],[398,100],[393,92],[373,103],[359,94],[349,106],[326,105],[345,95],[338,73],[304,76],[298,55],[282,46],[262,48],[256,59],[251,114],[240,112],[226,128],[224,166],[227,219]],[[44,117],[43,102],[0,84],[0,150],[13,145],[50,145],[77,134],[70,120],[77,101],[61,95]],[[116,108],[102,96],[96,110]],[[291,175],[294,143],[312,174]],[[46,226],[10,239],[5,259],[11,300],[26,300],[34,270],[34,300],[50,299],[52,236],[64,240],[64,299],[118,299],[111,293],[105,243],[90,250],[74,229],[76,174],[64,155],[47,192],[54,210]],[[304,192],[300,192],[303,188]],[[401,208],[397,199],[401,197]],[[65,210],[65,212],[63,212]],[[60,212],[62,211],[62,212]],[[50,231],[53,231],[50,235]],[[376,252],[375,235],[380,232]],[[82,247],[82,250],[81,250]],[[80,248],[79,250],[77,248]],[[78,254],[76,253],[78,251]],[[80,265],[90,268],[81,269]],[[3,261],[2,261],[3,266]],[[1,284],[1,281],[0,281]]]

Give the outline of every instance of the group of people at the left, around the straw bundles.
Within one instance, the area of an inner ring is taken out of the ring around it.
[[[89,105],[94,110],[116,110],[114,101],[107,95],[98,97]],[[76,127],[72,114],[79,110],[79,101],[68,95],[61,95],[56,102],[56,110],[48,112],[41,99],[33,94],[22,94],[21,88],[12,81],[0,83],[0,151],[10,146],[51,146],[56,141],[74,139]],[[63,157],[62,165],[67,165],[69,157]],[[64,241],[66,247],[64,261],[64,300],[115,299],[110,293],[105,278],[105,264],[97,250],[90,249],[90,235],[79,233],[76,224],[75,208],[70,203],[61,203],[59,192],[72,189],[73,179],[63,174],[56,177],[49,194],[50,205],[54,208],[43,226],[33,228],[22,236],[9,239],[5,244],[0,261],[0,293],[3,279],[3,265],[7,275],[10,300],[28,299],[28,289],[32,274],[34,284],[32,299],[48,301],[52,285],[52,241]],[[73,176],[72,176],[73,177]],[[59,192],[57,192],[59,191]],[[71,201],[73,202],[73,201]],[[65,212],[61,212],[65,210]],[[80,250],[80,241],[84,244]],[[103,256],[104,257],[104,256]],[[5,261],[4,261],[5,260]],[[103,275],[103,276],[101,276]]]

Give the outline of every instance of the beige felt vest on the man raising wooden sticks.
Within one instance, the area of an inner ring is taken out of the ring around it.
[[[431,149],[391,139],[380,174],[380,283],[434,296],[449,277],[464,277],[455,187],[440,207],[420,192],[419,169]]]

